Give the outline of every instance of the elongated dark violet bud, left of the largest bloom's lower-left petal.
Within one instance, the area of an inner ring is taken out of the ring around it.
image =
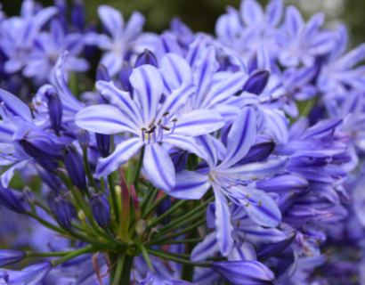
[[[78,189],[86,190],[87,187],[83,159],[81,159],[81,156],[73,144],[66,145],[64,162],[72,183],[74,183]]]

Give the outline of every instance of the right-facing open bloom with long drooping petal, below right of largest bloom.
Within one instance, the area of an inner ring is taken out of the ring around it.
[[[183,170],[176,174],[176,186],[169,194],[179,199],[200,199],[209,187],[215,191],[215,228],[221,252],[228,255],[233,247],[231,232],[231,202],[246,207],[247,216],[256,224],[276,226],[280,223],[280,210],[273,199],[247,185],[256,179],[264,179],[282,172],[288,166],[288,158],[272,157],[237,165],[255,142],[255,111],[244,108],[231,126],[227,147],[222,142],[200,136],[199,143],[208,153],[207,167],[197,172]],[[219,160],[221,162],[219,163]]]

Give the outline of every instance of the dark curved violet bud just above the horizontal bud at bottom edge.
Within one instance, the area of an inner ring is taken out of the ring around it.
[[[264,260],[268,259],[272,256],[276,256],[280,254],[283,250],[288,248],[289,245],[293,242],[296,238],[296,230],[290,229],[287,231],[283,231],[287,236],[286,240],[281,240],[280,242],[270,243],[270,244],[263,244],[256,249],[257,259]]]

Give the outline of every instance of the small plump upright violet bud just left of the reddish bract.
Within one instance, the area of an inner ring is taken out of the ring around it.
[[[110,223],[110,205],[104,193],[97,193],[90,199],[90,208],[96,224],[102,229],[106,229]]]

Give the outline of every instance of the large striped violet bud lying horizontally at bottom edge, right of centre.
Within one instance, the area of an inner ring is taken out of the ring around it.
[[[269,285],[275,281],[274,273],[257,261],[219,261],[212,269],[235,285]]]

